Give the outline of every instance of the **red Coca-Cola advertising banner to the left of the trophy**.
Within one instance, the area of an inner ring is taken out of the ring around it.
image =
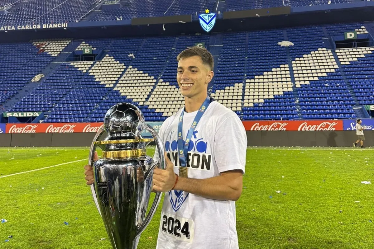
[[[102,123],[6,124],[6,133],[98,132],[102,126]]]

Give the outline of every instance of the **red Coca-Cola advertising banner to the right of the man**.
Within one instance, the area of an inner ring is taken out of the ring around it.
[[[343,131],[343,120],[243,121],[246,131]]]

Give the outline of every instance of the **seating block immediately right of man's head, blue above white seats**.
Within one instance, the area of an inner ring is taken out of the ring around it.
[[[224,35],[211,94],[238,115],[242,111],[246,51],[246,33]]]

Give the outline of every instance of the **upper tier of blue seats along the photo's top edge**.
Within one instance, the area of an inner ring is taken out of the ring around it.
[[[0,15],[0,26],[58,24],[83,21],[86,15],[95,7],[100,6],[102,0],[30,0],[20,1],[1,0],[0,7],[11,6],[10,13]],[[334,3],[350,3],[353,0],[226,0],[224,10],[236,11],[247,9],[261,9],[270,7],[300,7]],[[213,12],[215,1],[210,0],[128,0],[122,1],[120,7],[113,6],[92,12],[89,21],[130,20],[133,18],[193,15],[204,13],[205,9]],[[105,2],[104,2],[105,4]]]

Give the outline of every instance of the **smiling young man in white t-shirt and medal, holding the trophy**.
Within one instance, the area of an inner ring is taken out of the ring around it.
[[[165,193],[156,248],[238,249],[235,201],[245,172],[245,128],[236,113],[208,97],[211,53],[191,47],[177,60],[185,106],[159,131],[166,168],[153,175],[153,190]],[[92,184],[92,168],[85,169]]]

